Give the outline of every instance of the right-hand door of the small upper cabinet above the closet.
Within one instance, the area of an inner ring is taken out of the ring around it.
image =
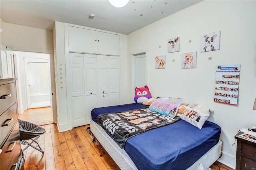
[[[97,32],[97,50],[100,54],[120,54],[120,35]]]

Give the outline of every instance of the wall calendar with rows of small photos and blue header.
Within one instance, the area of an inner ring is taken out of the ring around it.
[[[216,66],[214,102],[237,105],[239,78],[240,64]]]

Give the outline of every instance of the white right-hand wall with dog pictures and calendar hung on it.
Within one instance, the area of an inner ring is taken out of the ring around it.
[[[234,136],[241,127],[256,124],[256,112],[252,110],[256,96],[255,4],[256,1],[206,0],[128,35],[128,52],[149,49],[148,87],[152,96],[183,97],[182,102],[202,103],[214,110],[209,120],[222,128],[222,155],[226,154],[219,161],[232,168],[236,145],[229,151],[228,148],[234,143]],[[218,30],[220,50],[201,53],[200,36]],[[180,36],[180,52],[167,53],[167,40],[176,36]],[[182,53],[194,51],[197,68],[182,69]],[[166,55],[166,69],[155,69],[155,57],[160,55]],[[214,102],[215,66],[219,64],[241,64],[237,106]],[[130,92],[134,93],[134,89]]]

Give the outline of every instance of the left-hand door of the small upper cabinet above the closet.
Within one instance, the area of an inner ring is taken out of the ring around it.
[[[73,26],[68,27],[68,50],[70,52],[97,52],[97,32]]]

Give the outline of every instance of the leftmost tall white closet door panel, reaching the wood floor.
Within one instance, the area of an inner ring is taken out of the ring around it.
[[[85,125],[83,54],[70,53],[72,127]]]

